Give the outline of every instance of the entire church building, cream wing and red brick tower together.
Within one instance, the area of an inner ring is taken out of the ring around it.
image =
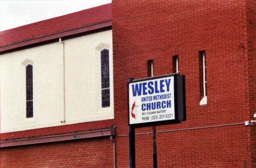
[[[156,126],[158,167],[256,167],[255,11],[113,0],[0,32],[1,167],[129,167],[128,79],[177,73],[186,121]],[[153,152],[135,128],[136,166]]]

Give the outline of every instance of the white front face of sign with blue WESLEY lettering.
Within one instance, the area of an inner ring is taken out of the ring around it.
[[[129,125],[175,120],[174,76],[128,85]]]

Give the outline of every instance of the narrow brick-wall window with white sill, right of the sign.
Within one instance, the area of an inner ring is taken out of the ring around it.
[[[200,73],[200,105],[207,104],[207,90],[206,90],[206,62],[205,51],[199,51],[199,73]]]

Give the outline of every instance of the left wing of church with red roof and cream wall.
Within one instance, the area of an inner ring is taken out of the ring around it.
[[[107,4],[0,33],[1,167],[113,166],[111,29]]]

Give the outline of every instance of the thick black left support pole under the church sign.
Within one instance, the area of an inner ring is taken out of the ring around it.
[[[135,129],[129,126],[129,162],[130,168],[135,168]]]

